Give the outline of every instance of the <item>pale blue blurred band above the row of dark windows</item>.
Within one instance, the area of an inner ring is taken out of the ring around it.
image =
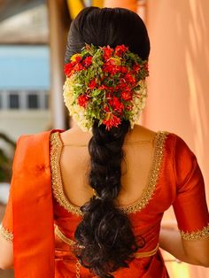
[[[50,89],[48,46],[0,46],[0,89]]]

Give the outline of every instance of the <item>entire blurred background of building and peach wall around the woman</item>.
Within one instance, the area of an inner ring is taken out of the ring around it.
[[[149,98],[141,124],[182,136],[197,155],[209,201],[209,1],[0,0],[0,220],[19,135],[70,127],[62,87],[66,35],[85,6],[125,7],[143,18],[151,39]],[[173,223],[173,211],[164,221]],[[0,247],[1,248],[1,247]],[[164,253],[173,278],[209,270]],[[13,277],[1,271],[0,277]]]

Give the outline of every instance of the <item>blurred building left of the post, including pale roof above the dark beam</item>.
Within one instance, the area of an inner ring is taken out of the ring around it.
[[[0,132],[13,140],[50,127],[48,35],[45,4],[0,21]]]

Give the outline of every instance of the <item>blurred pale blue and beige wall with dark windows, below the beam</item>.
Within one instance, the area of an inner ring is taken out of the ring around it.
[[[49,127],[48,46],[0,47],[0,132],[16,139]]]

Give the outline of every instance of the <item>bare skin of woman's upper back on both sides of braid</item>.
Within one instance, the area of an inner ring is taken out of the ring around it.
[[[60,158],[63,186],[66,197],[77,206],[84,205],[93,196],[88,181],[90,137],[78,127],[60,134],[63,143]],[[131,205],[142,196],[151,171],[155,138],[155,132],[140,126],[135,126],[126,136],[118,205]]]

